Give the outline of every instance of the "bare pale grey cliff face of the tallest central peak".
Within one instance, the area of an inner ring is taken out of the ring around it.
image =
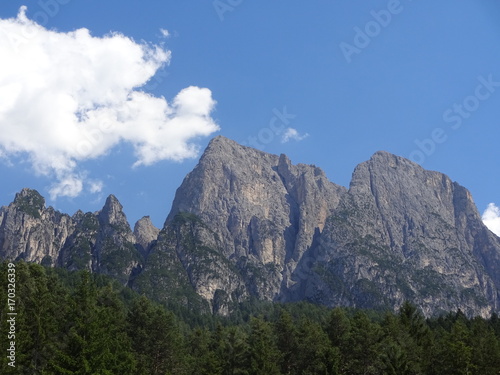
[[[179,212],[197,215],[220,237],[247,291],[273,300],[344,192],[319,168],[219,136],[177,190],[166,226]]]

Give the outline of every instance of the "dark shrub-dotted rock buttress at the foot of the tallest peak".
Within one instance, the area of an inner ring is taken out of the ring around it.
[[[199,217],[178,214],[160,232],[133,287],[167,304],[170,299],[185,300],[186,306],[227,315],[248,294],[239,271],[222,251],[219,236]],[[203,307],[201,300],[208,304]]]

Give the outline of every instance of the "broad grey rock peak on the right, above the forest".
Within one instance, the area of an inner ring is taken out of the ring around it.
[[[486,249],[497,255],[485,258]],[[411,300],[428,315],[458,308],[488,315],[499,308],[498,276],[488,270],[498,266],[499,251],[465,188],[378,152],[354,171],[296,274],[294,294],[328,305]],[[492,258],[495,266],[485,261]]]

